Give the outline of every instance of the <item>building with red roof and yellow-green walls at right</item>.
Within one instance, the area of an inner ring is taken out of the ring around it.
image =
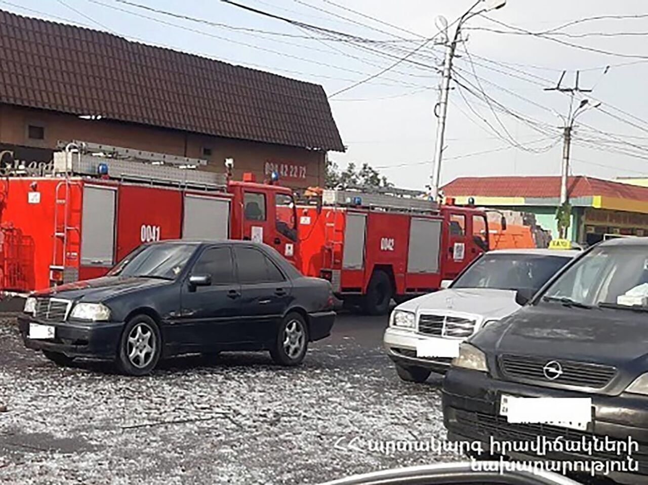
[[[648,236],[648,187],[577,175],[569,177],[572,205],[570,238],[596,243],[612,236]],[[561,177],[459,177],[443,187],[443,194],[465,204],[527,212],[557,237],[557,207]]]

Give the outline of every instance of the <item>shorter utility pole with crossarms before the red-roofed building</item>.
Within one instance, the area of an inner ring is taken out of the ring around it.
[[[570,107],[567,117],[557,113],[562,118],[564,125],[562,126],[562,164],[561,164],[561,201],[557,208],[556,219],[558,220],[558,230],[561,239],[567,238],[567,230],[570,226],[570,218],[572,216],[572,207],[569,203],[569,194],[567,192],[568,178],[569,178],[569,160],[570,150],[572,146],[572,130],[576,117],[587,111],[588,108],[599,107],[601,103],[594,106],[589,105],[588,99],[581,100],[581,103],[576,109],[573,109],[573,96],[575,93],[591,93],[592,89],[581,89],[579,86],[580,71],[576,71],[576,80],[573,87],[561,87],[562,80],[566,71],[562,71],[561,78],[555,87],[546,87],[545,91],[559,91],[561,93],[569,93],[571,96]],[[588,106],[589,105],[589,106]]]

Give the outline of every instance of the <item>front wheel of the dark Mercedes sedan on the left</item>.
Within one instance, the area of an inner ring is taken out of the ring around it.
[[[135,315],[126,322],[119,348],[117,367],[129,376],[145,376],[157,365],[162,353],[159,327],[148,315]]]

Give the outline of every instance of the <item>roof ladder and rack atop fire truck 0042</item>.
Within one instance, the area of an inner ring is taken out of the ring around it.
[[[420,190],[380,187],[345,187],[325,189],[322,203],[341,207],[367,207],[408,212],[438,212],[439,205]]]

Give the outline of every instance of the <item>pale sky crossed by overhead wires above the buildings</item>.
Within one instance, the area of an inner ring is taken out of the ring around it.
[[[129,1],[218,25],[157,14],[119,0],[0,0],[0,8],[110,30],[126,38],[316,82],[332,95],[389,67],[421,45],[424,38],[434,36],[438,32],[437,16],[452,22],[474,4],[474,0],[236,0],[317,27],[382,41],[359,45],[324,40],[324,34],[216,0]],[[531,32],[551,30],[584,17],[626,17],[587,21],[557,30],[550,34],[556,39],[553,41],[470,30],[507,28],[480,16],[467,21],[464,34],[468,34],[465,45],[470,58],[460,45],[460,57],[455,61],[460,76],[457,79],[474,93],[483,89],[491,98],[491,106],[499,104],[518,118],[498,111],[494,117],[488,103],[464,88],[453,89],[442,180],[474,175],[558,175],[562,153],[558,127],[563,122],[555,112],[566,114],[569,98],[543,88],[555,86],[562,70],[568,71],[563,85],[573,86],[577,69],[582,70],[580,87],[594,88],[591,94],[581,96],[590,96],[591,105],[602,104],[577,120],[572,173],[603,178],[648,176],[645,0],[508,0],[502,9],[487,15]],[[559,42],[620,55],[586,51]],[[371,82],[332,96],[333,115],[348,150],[332,152],[330,158],[341,166],[351,161],[367,162],[397,186],[424,188],[432,172],[436,130],[433,108],[440,78],[437,67],[441,66],[435,65],[435,58],[441,60],[444,52],[443,45],[430,42]],[[610,66],[607,73],[606,66]]]

